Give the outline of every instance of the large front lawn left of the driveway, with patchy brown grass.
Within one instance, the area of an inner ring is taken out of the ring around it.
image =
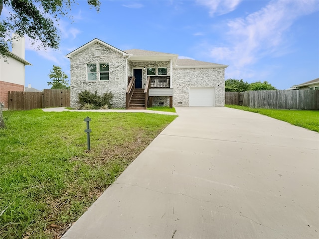
[[[0,238],[59,238],[175,116],[3,112]],[[90,117],[91,151],[86,124]]]

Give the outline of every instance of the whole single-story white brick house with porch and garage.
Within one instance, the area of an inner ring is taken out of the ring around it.
[[[111,91],[113,106],[120,108],[147,107],[145,98],[136,100],[144,91],[146,100],[155,106],[224,106],[225,103],[227,65],[178,59],[178,55],[170,53],[122,51],[97,38],[66,56],[71,63],[71,107],[74,108],[78,107],[78,93],[84,90],[98,94]],[[134,84],[130,84],[131,79]],[[127,94],[128,85],[135,88],[133,95]]]

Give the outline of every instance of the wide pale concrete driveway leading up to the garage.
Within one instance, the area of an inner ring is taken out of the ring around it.
[[[224,107],[176,110],[63,239],[319,238],[319,133]]]

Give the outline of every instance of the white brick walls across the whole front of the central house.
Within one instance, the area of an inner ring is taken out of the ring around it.
[[[204,64],[204,66],[177,66],[176,64],[176,67],[174,67],[173,62],[176,62],[177,55],[144,50],[134,50],[133,52],[139,53],[139,51],[150,54],[150,57],[142,55],[138,60],[137,58],[132,60],[134,54],[132,55],[131,53],[131,55],[129,55],[107,43],[94,39],[86,45],[69,53],[67,57],[70,58],[71,62],[71,107],[79,107],[78,93],[88,90],[92,93],[96,91],[99,95],[106,92],[112,92],[114,94],[112,101],[113,107],[124,108],[126,106],[128,76],[133,75],[134,69],[143,69],[142,87],[144,88],[147,81],[146,69],[148,67],[156,68],[156,72],[158,72],[158,68],[160,67],[167,68],[167,75],[172,75],[170,81],[171,87],[173,88],[173,106],[189,106],[189,89],[191,87],[213,87],[215,106],[224,106],[225,68],[227,66],[207,62],[206,66],[205,62],[192,60],[194,64]],[[165,58],[166,55],[170,59]],[[175,60],[174,57],[176,57]],[[145,58],[152,60],[140,60]],[[178,60],[178,62],[179,61],[181,60]],[[96,81],[87,80],[87,64],[89,63],[97,65]],[[108,81],[99,80],[99,63],[109,64]],[[161,91],[160,88],[156,88],[156,92],[159,94],[164,91]],[[153,105],[158,106],[160,103],[164,103],[164,106],[168,106],[169,97],[163,94],[159,94],[158,96],[154,95]]]

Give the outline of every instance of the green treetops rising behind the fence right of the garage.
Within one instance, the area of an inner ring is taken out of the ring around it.
[[[267,81],[264,82],[254,82],[248,83],[241,80],[236,79],[227,79],[225,81],[225,91],[232,92],[244,92],[244,91],[270,91],[277,90],[274,86],[272,86]]]

